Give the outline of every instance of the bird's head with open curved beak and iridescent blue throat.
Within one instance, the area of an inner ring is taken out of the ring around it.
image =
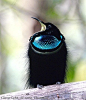
[[[52,23],[44,23],[35,17],[32,18],[41,24],[41,31],[35,33],[30,39],[32,45],[41,51],[52,51],[59,48],[64,40],[59,29]]]

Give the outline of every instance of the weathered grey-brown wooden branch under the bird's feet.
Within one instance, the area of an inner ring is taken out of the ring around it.
[[[86,100],[86,81],[2,94],[0,100]]]

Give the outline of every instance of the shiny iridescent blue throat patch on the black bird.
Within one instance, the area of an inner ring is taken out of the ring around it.
[[[32,42],[33,46],[40,50],[52,50],[61,44],[61,40],[58,40],[53,35],[41,35],[35,37]]]

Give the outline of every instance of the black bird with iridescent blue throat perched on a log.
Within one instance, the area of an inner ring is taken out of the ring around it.
[[[29,42],[28,86],[46,86],[56,82],[64,83],[66,75],[67,48],[64,36],[52,23],[32,17],[42,25]]]

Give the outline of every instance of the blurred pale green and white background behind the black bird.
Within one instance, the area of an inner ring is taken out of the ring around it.
[[[0,0],[0,94],[24,89],[29,38],[40,30],[32,16],[55,24],[65,36],[65,81],[86,80],[86,0]]]

